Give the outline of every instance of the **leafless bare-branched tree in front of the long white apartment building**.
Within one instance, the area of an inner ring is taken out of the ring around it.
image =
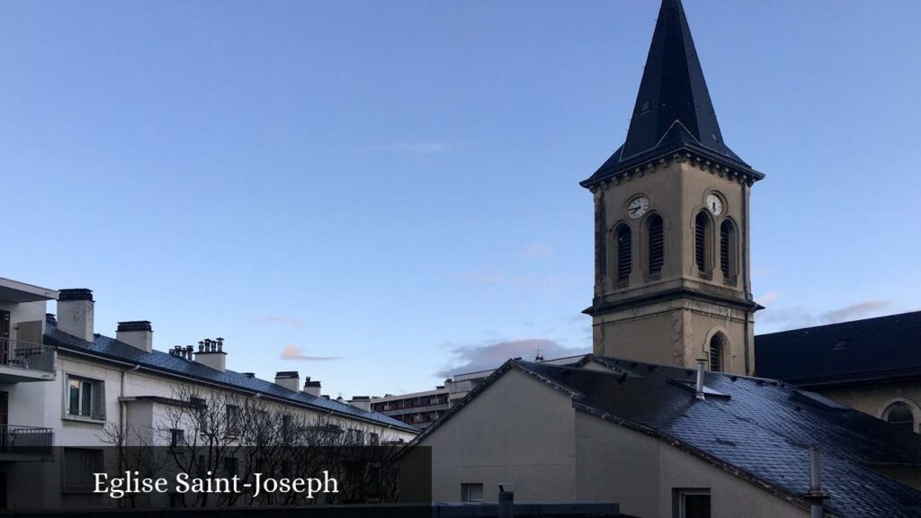
[[[192,385],[173,390],[157,431],[169,443],[176,469],[192,477],[262,479],[337,477],[338,493],[308,499],[296,492],[228,492],[194,495],[187,506],[310,504],[395,501],[399,493],[397,455],[392,447],[368,447],[381,440],[369,423],[285,405],[259,395],[204,391]]]

